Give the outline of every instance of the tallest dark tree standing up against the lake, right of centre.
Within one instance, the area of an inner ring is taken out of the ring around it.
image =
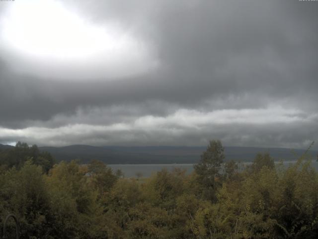
[[[199,183],[204,187],[203,196],[216,200],[215,192],[220,186],[220,168],[223,163],[224,147],[220,140],[211,140],[207,150],[201,155],[201,160],[194,165]]]

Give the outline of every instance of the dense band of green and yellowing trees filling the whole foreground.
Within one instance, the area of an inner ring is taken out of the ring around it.
[[[257,154],[238,171],[212,140],[192,174],[125,178],[98,160],[54,164],[36,145],[0,150],[0,230],[13,213],[22,239],[318,237],[318,173],[306,154],[287,168]]]

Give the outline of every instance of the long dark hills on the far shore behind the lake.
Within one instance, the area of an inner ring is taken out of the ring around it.
[[[50,152],[57,160],[70,161],[79,159],[86,163],[98,159],[107,164],[158,164],[158,163],[197,163],[206,147],[122,147],[89,145],[71,145],[65,147],[39,147],[41,151]],[[252,161],[258,152],[268,152],[274,160],[296,160],[305,149],[260,148],[260,147],[225,147],[225,160]],[[317,157],[318,150],[310,154]]]

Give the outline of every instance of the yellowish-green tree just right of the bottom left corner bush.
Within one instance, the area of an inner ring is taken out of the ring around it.
[[[98,192],[89,183],[87,168],[75,160],[56,164],[45,177],[54,223],[54,238],[95,239],[103,234]]]

